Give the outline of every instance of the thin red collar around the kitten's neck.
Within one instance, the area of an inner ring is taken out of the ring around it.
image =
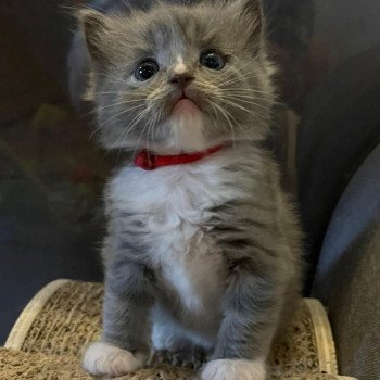
[[[183,153],[176,155],[159,155],[148,150],[142,150],[135,159],[136,166],[141,167],[144,170],[154,170],[157,167],[191,164],[195,161],[202,160],[208,155],[212,155],[223,149],[225,144],[220,144],[214,148],[210,148],[203,152]]]

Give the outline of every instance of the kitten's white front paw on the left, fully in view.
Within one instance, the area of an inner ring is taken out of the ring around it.
[[[129,351],[99,342],[86,350],[83,365],[91,375],[117,377],[142,368],[145,359],[143,354],[134,355]]]

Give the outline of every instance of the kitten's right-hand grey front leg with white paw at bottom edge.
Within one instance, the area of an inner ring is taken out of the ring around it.
[[[278,282],[250,258],[231,271],[218,342],[201,380],[264,380],[279,319]],[[259,274],[259,275],[256,275]]]

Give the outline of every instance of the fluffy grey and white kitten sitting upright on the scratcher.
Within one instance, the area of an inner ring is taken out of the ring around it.
[[[262,148],[275,96],[259,2],[142,3],[80,12],[73,51],[86,40],[89,55],[76,73],[90,72],[103,145],[224,148],[150,172],[125,165],[109,182],[103,333],[84,366],[121,376],[153,351],[205,360],[202,380],[264,380],[299,296],[300,231]]]

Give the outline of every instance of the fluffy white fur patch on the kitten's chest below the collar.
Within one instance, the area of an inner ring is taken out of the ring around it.
[[[223,186],[217,167],[211,162],[154,172],[126,168],[110,187],[113,207],[143,221],[151,261],[186,309],[199,317],[218,309],[226,276],[204,221],[210,207],[236,197],[231,187]]]

